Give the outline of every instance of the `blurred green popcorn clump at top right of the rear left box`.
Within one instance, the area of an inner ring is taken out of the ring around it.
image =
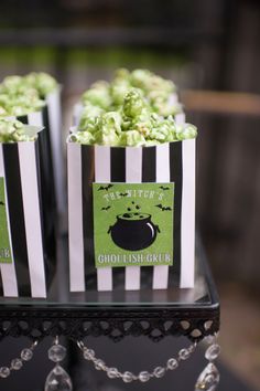
[[[44,72],[32,72],[24,76],[24,85],[35,88],[43,98],[57,88],[55,78]]]

